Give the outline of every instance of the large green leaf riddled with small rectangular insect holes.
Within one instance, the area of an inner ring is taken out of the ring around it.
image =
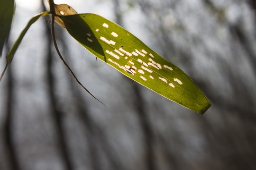
[[[124,28],[95,14],[59,17],[75,40],[125,76],[198,113],[210,107],[206,96],[180,68]]]

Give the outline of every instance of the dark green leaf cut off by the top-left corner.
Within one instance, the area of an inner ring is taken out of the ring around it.
[[[9,36],[14,10],[14,0],[0,0],[0,57]]]

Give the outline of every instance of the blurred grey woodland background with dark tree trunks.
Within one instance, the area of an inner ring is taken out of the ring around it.
[[[45,1],[16,0],[4,53]],[[256,170],[255,0],[55,0],[126,28],[183,69],[202,116],[131,81],[55,25],[28,30],[0,82],[0,170]],[[0,59],[0,69],[5,58]]]

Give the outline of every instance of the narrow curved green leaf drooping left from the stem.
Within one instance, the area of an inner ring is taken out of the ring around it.
[[[32,17],[28,23],[27,26],[23,29],[23,31],[20,33],[18,39],[16,40],[16,42],[13,44],[13,46],[11,47],[11,50],[9,51],[9,53],[6,56],[6,66],[0,76],[0,80],[2,79],[6,69],[8,68],[9,64],[11,63],[13,56],[15,54],[15,52],[18,49],[18,46],[20,44],[20,42],[22,41],[23,37],[25,36],[25,34],[27,33],[27,30],[29,29],[29,27],[34,24],[41,16],[47,15],[49,14],[49,12],[42,12],[40,14],[37,14],[36,16]]]

